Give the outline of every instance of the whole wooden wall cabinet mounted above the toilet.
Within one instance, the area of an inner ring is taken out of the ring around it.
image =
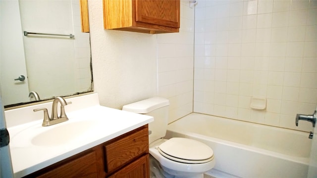
[[[105,29],[179,32],[180,0],[103,0]]]

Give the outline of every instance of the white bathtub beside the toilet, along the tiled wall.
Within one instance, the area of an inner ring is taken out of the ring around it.
[[[307,178],[312,141],[306,132],[192,113],[168,125],[170,137],[209,145],[216,165],[207,174],[215,177]]]

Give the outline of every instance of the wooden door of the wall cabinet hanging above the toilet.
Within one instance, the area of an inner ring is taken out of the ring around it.
[[[136,22],[179,28],[179,0],[135,0]]]

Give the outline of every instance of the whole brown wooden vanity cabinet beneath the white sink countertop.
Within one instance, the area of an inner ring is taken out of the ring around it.
[[[149,178],[148,133],[142,126],[26,178]]]

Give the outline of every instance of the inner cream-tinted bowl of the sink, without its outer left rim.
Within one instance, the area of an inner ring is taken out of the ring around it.
[[[81,140],[82,136],[95,127],[97,122],[79,121],[56,125],[56,127],[34,135],[31,143],[37,146],[58,146]]]

